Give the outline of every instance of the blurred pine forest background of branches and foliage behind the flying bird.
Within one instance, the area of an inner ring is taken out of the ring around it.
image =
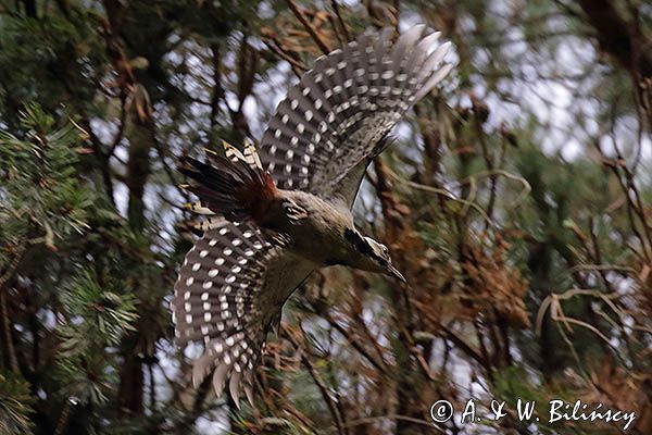
[[[197,235],[175,171],[260,138],[315,58],[386,26],[455,63],[354,208],[408,284],[315,273],[255,408],[172,344]],[[652,433],[652,4],[640,0],[0,3],[0,433],[615,434],[435,425],[440,399],[602,402]],[[511,405],[510,405],[511,403]],[[537,415],[537,414],[536,414]]]

